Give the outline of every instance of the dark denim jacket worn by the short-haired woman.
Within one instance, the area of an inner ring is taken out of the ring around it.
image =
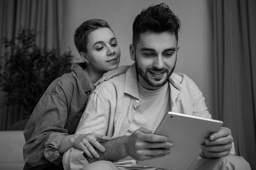
[[[63,153],[58,147],[63,137],[74,134],[91,91],[85,72],[77,64],[71,73],[49,85],[24,130],[24,169],[63,169]]]

